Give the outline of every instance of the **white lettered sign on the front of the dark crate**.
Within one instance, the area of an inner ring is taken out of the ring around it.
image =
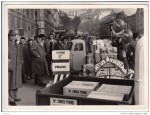
[[[51,97],[50,105],[77,105],[77,100]]]

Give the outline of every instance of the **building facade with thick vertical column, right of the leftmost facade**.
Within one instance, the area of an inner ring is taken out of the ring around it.
[[[38,9],[35,10],[36,34],[45,34],[48,36],[50,31],[59,27],[60,18],[56,9]]]

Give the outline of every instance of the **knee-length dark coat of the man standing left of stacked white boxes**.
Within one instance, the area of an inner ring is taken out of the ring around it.
[[[32,54],[32,61],[31,61],[32,73],[49,75],[47,62],[45,58],[46,53],[44,46],[41,46],[40,43],[34,41],[33,45],[30,48],[30,51]]]

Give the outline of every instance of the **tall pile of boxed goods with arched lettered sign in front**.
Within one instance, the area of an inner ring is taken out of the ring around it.
[[[93,49],[93,52],[87,55],[87,64],[83,66],[85,77],[126,79],[125,76],[134,73],[124,69],[124,63],[117,59],[117,47],[112,46],[111,40],[93,40]]]

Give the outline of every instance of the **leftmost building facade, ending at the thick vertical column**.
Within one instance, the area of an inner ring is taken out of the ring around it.
[[[9,9],[8,25],[9,29],[19,31],[19,36],[32,38],[35,35],[35,10],[29,9]]]

